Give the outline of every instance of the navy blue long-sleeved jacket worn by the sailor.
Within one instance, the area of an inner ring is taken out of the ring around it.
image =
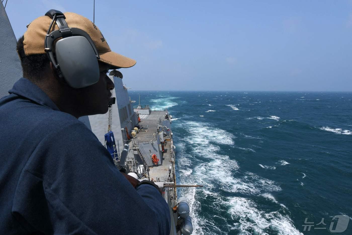
[[[0,234],[169,234],[151,185],[134,189],[74,116],[25,78],[0,100]]]

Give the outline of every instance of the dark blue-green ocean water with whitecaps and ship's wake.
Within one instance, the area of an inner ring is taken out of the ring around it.
[[[178,190],[193,234],[352,234],[351,92],[130,95],[173,116],[177,182],[204,185]]]

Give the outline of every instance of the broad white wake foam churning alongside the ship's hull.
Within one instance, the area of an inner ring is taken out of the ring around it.
[[[234,135],[205,122],[185,122],[182,123],[182,128],[189,134],[182,137],[183,144],[177,143],[179,181],[181,184],[200,183],[204,185],[202,190],[180,188],[179,191],[180,195],[188,199],[194,235],[225,235],[232,229],[238,229],[244,234],[251,234],[252,231],[267,234],[268,230],[275,230],[278,234],[300,234],[289,217],[277,211],[260,211],[251,199],[225,197],[220,194],[221,191],[239,192],[245,195],[261,194],[277,203],[275,197],[269,192],[281,190],[281,187],[274,181],[248,171],[240,173],[237,161],[227,155],[222,155],[218,145],[233,145]],[[191,149],[187,150],[191,152],[184,151],[186,146],[187,148],[191,146]],[[200,202],[205,198],[209,203],[208,216],[211,216],[210,219],[202,215]],[[220,226],[212,219],[221,219],[229,223],[231,219],[226,218],[227,213],[237,223]]]

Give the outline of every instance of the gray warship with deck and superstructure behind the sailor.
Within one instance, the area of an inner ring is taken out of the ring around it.
[[[0,98],[8,94],[13,84],[22,76],[16,53],[16,38],[5,8],[0,4]],[[115,165],[136,179],[156,183],[168,203],[171,216],[171,235],[190,235],[193,232],[187,199],[178,197],[177,187],[202,187],[177,185],[176,146],[171,129],[172,116],[165,107],[151,110],[149,106],[133,108],[135,101],[122,83],[122,74],[109,73],[115,89],[116,102],[109,105],[106,114],[84,116],[79,120],[98,137],[111,153]]]

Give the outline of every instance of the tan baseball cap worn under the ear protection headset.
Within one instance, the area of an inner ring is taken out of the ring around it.
[[[72,12],[66,12],[64,15],[66,17],[65,20],[67,25],[70,28],[82,29],[92,38],[95,47],[98,50],[100,61],[111,65],[112,69],[129,68],[136,64],[135,60],[112,52],[99,28],[89,19]],[[41,16],[29,24],[28,29],[24,34],[23,41],[25,55],[45,54],[44,39],[51,21],[52,19],[49,16]],[[54,23],[52,31],[57,29],[58,27],[56,23]]]

